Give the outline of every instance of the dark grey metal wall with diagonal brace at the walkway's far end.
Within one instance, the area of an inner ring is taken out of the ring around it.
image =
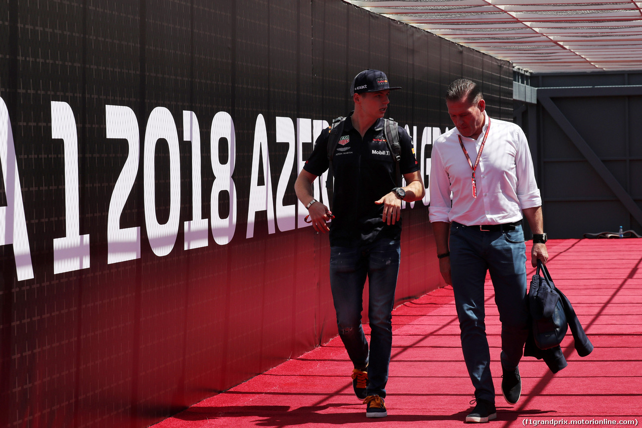
[[[516,112],[535,154],[550,237],[581,238],[620,226],[642,233],[641,76],[528,76],[537,105],[517,104]]]

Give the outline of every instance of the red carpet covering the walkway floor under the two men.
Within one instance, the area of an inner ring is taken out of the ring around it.
[[[487,334],[498,418],[494,427],[642,423],[642,240],[549,241],[551,276],[568,296],[595,349],[580,358],[568,333],[568,367],[553,375],[522,360],[521,400],[501,397],[499,317],[487,281]],[[529,264],[530,267],[530,264]],[[528,272],[529,281],[534,269]],[[369,419],[354,397],[352,366],[338,337],[155,428],[460,427],[473,388],[465,370],[450,287],[394,311],[388,417]],[[631,421],[631,422],[629,422]]]

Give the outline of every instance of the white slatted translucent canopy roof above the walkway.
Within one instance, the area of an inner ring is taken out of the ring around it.
[[[632,0],[344,0],[532,73],[642,69]]]

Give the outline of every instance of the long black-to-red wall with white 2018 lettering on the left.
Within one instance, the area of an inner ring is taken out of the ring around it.
[[[358,71],[403,86],[426,186],[446,85],[480,80],[496,117],[511,98],[505,63],[336,0],[0,16],[3,428],[145,427],[336,334],[293,184]],[[428,202],[403,211],[397,303],[442,285]]]

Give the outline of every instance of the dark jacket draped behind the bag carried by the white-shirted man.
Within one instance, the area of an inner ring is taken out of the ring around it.
[[[533,277],[534,281],[536,280],[536,276],[537,275]],[[557,292],[557,294],[559,294],[562,307],[564,308],[566,321],[568,322],[568,326],[571,329],[571,334],[573,334],[573,339],[575,340],[575,350],[577,351],[578,355],[580,355],[580,357],[586,357],[587,355],[589,355],[589,353],[593,352],[593,344],[591,343],[591,341],[589,341],[589,338],[586,337],[584,328],[582,328],[580,321],[577,319],[577,315],[575,314],[575,310],[573,310],[573,306],[571,305],[569,299],[564,296],[564,293],[557,289],[557,287],[554,287],[554,290],[555,292]],[[532,301],[532,299],[536,298],[537,297],[532,296],[531,293],[528,294],[528,299],[531,300],[529,301],[529,308],[531,307],[531,304],[541,305],[541,302]],[[568,365],[568,363],[566,362],[566,357],[564,357],[564,353],[562,352],[562,348],[560,345],[543,350],[538,348],[535,344],[533,330],[529,331],[528,338],[526,339],[526,344],[524,346],[524,356],[543,359],[544,362],[546,362],[548,368],[550,368],[553,373],[557,373]]]

